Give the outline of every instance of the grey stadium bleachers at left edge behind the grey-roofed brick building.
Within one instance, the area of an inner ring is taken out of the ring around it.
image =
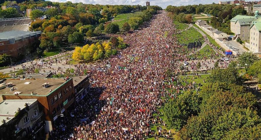
[[[0,19],[0,33],[12,30],[29,31],[31,22],[29,17]]]

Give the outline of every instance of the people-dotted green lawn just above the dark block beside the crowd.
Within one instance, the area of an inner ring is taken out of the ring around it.
[[[176,34],[179,43],[189,44],[189,42],[199,41],[199,38],[203,38],[201,33],[199,33],[194,28],[189,28],[189,30],[181,32],[181,34]]]

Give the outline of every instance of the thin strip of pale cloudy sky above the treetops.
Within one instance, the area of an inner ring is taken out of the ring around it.
[[[82,2],[84,4],[101,4],[101,5],[146,5],[147,0],[50,0],[52,2],[66,2],[72,3]],[[226,0],[221,0],[226,1]],[[246,0],[251,1],[251,0]],[[150,0],[151,5],[158,5],[165,9],[168,5],[181,6],[181,5],[194,5],[194,4],[212,4],[213,2],[218,4],[219,0]]]

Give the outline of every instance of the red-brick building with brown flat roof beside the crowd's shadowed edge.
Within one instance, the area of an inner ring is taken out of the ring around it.
[[[37,99],[43,108],[45,132],[52,131],[54,121],[75,100],[72,78],[6,78],[0,85],[0,101],[6,99]]]

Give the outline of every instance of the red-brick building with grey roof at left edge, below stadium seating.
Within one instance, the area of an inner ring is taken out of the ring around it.
[[[12,57],[25,55],[27,48],[38,43],[41,31],[7,31],[0,33],[0,55],[6,53]],[[28,52],[29,53],[29,52]]]

